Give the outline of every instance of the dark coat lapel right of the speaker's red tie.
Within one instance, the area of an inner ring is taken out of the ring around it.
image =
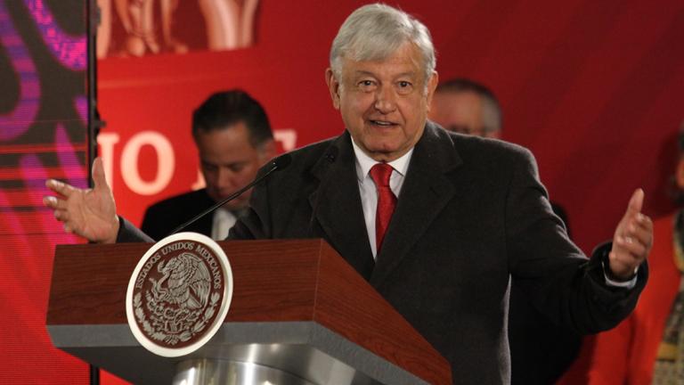
[[[454,185],[445,173],[459,167],[461,160],[451,138],[441,130],[428,122],[416,143],[395,214],[371,276],[375,287],[408,255],[454,196]]]

